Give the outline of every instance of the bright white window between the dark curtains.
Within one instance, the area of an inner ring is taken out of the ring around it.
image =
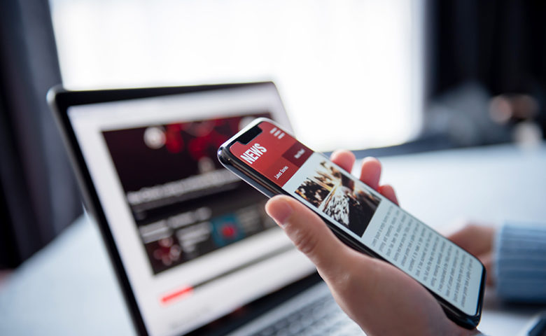
[[[311,148],[421,125],[422,0],[51,0],[69,89],[274,80]]]

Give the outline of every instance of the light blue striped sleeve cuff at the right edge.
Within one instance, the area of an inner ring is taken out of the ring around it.
[[[546,225],[506,223],[498,231],[495,249],[498,297],[546,302]]]

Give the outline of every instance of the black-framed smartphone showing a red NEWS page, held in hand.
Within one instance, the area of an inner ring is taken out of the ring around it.
[[[412,276],[458,325],[479,323],[486,274],[474,255],[272,120],[254,120],[218,149],[218,159],[268,197],[289,195],[305,204],[345,244]]]

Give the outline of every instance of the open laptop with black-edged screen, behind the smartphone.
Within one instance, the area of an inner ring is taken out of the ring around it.
[[[67,91],[48,100],[139,335],[361,335],[313,265],[221,167],[273,83]]]

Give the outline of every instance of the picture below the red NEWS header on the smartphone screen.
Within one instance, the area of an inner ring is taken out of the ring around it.
[[[321,162],[295,193],[358,236],[363,235],[381,202],[327,161]]]

